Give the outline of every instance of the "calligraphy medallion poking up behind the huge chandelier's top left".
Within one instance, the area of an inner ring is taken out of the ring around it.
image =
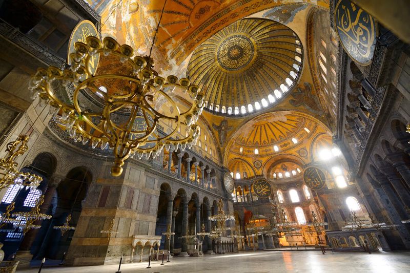
[[[67,62],[70,63],[70,54],[75,52],[75,43],[77,43],[77,41],[80,41],[81,43],[87,44],[86,39],[88,36],[98,37],[97,28],[91,21],[83,20],[79,22],[77,26],[75,26],[73,32],[71,33],[67,50]],[[97,70],[98,60],[99,54],[95,54],[90,61],[90,71],[92,74],[94,74]]]

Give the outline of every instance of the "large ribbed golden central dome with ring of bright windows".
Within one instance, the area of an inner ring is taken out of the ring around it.
[[[195,49],[187,77],[204,92],[206,110],[246,115],[282,99],[298,80],[297,35],[272,20],[242,19]]]

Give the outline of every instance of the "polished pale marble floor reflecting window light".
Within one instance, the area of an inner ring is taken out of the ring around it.
[[[410,252],[380,253],[334,253],[328,251],[256,251],[203,257],[173,258],[172,262],[160,265],[151,263],[125,263],[121,266],[127,272],[410,272]],[[43,268],[42,273],[114,273],[118,265],[87,267]],[[38,268],[18,270],[18,272],[38,272]]]

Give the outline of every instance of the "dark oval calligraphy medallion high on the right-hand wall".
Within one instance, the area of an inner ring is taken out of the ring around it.
[[[376,48],[376,20],[350,0],[339,0],[335,27],[346,53],[360,65],[370,64]]]

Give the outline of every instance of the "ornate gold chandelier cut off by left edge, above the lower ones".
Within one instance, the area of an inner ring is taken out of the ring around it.
[[[15,159],[27,151],[28,140],[29,136],[20,135],[15,141],[7,143],[7,156],[0,159],[0,190],[14,184],[26,186],[26,189],[36,188],[43,181],[38,175],[17,170],[18,164]]]

